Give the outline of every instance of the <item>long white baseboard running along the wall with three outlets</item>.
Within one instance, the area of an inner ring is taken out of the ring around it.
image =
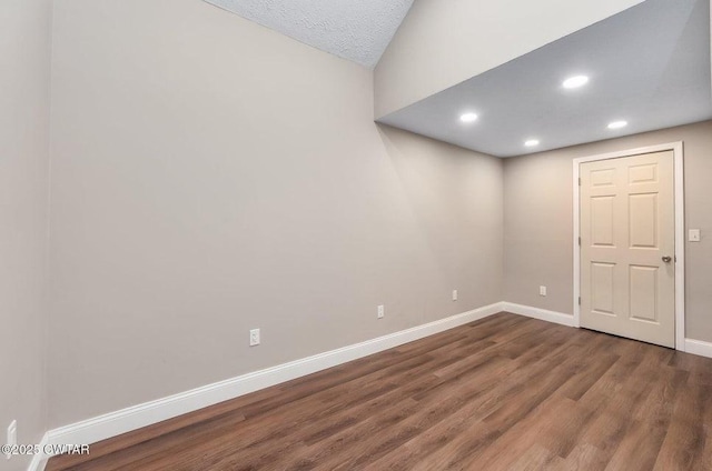
[[[336,367],[503,311],[503,303],[486,305],[424,325],[403,330],[274,368],[208,384],[156,401],[50,430],[50,444],[89,444],[160,421],[238,398],[306,374]]]

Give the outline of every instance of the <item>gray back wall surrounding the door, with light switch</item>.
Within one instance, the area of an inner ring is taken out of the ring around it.
[[[684,142],[686,229],[703,234],[685,242],[685,335],[712,341],[712,121],[506,159],[506,300],[573,313],[573,159],[675,141]]]

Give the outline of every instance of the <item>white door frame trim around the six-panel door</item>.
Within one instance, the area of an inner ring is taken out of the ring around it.
[[[672,151],[674,160],[674,199],[675,199],[675,350],[684,351],[685,347],[685,198],[684,198],[684,156],[682,141],[649,146],[637,149],[622,150],[599,156],[581,157],[573,160],[574,189],[574,327],[581,327],[581,187],[578,186],[581,164],[597,160],[620,159],[644,153]]]

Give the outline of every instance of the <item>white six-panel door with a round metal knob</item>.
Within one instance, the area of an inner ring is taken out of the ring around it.
[[[673,152],[582,163],[581,325],[675,347]]]

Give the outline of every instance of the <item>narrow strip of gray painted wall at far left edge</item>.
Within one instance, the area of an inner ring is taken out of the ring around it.
[[[46,430],[47,189],[50,0],[0,2],[0,431],[20,443]],[[27,469],[16,457],[3,470]]]

